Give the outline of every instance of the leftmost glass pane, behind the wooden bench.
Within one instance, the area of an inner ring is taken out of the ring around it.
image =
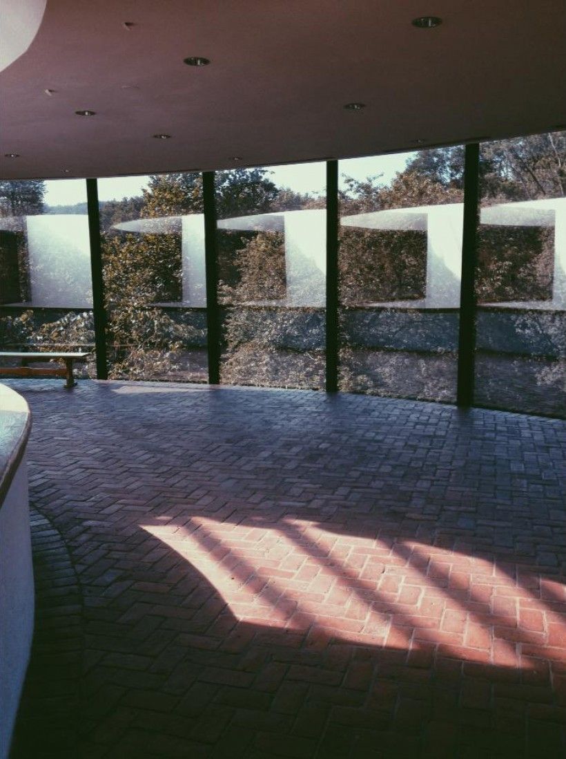
[[[0,350],[94,351],[83,179],[0,181]],[[95,376],[94,352],[75,373]]]

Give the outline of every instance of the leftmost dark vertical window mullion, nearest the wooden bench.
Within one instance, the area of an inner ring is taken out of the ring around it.
[[[92,274],[92,313],[94,317],[96,376],[108,379],[106,351],[106,309],[102,276],[102,245],[100,238],[99,187],[96,179],[86,180],[86,206],[89,214],[90,270]]]

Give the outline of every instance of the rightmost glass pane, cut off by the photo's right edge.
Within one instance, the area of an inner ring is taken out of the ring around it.
[[[480,150],[475,402],[566,414],[566,132]]]

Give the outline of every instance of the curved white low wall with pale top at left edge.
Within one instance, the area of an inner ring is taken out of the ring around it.
[[[0,757],[11,734],[33,637],[33,565],[27,495],[27,403],[0,385]]]

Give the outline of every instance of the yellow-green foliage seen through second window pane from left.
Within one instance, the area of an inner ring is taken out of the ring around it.
[[[102,260],[108,314],[110,374],[152,379],[179,367],[179,352],[202,342],[202,329],[174,320],[156,303],[182,299],[180,225],[171,234],[125,234],[111,226],[139,218],[202,213],[202,178],[156,175],[141,198],[105,203]]]

